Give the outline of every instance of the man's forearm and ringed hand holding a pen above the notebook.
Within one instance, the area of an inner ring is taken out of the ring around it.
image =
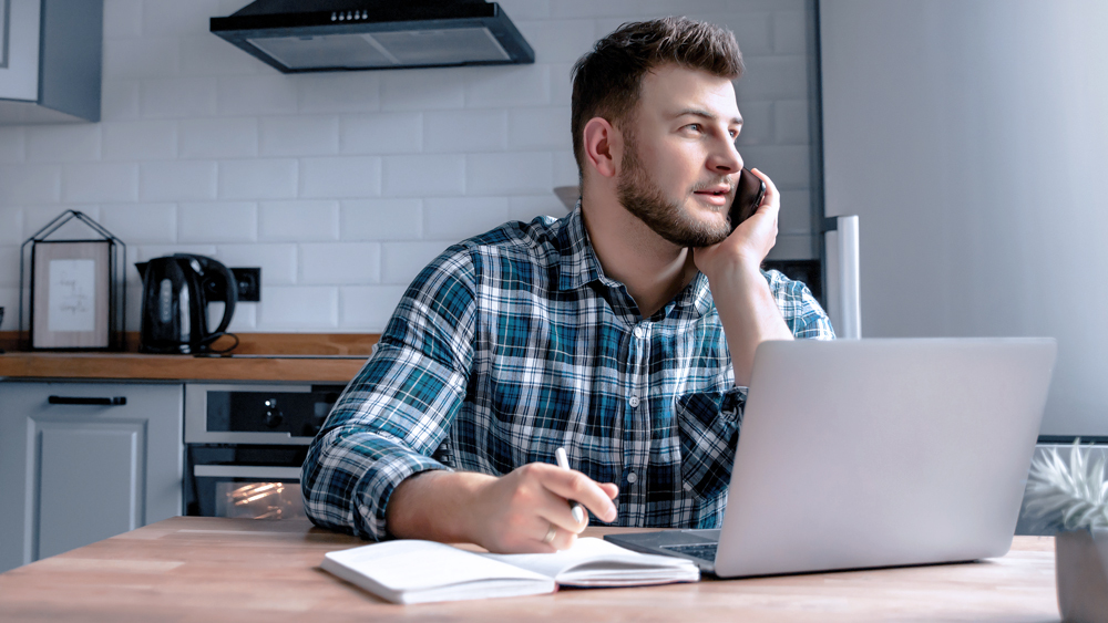
[[[389,532],[400,538],[472,542],[500,553],[548,553],[572,547],[588,525],[588,518],[573,518],[570,500],[614,521],[612,500],[618,492],[614,484],[542,463],[499,478],[429,471],[397,487],[386,516]]]

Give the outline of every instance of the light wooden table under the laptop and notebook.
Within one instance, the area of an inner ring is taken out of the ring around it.
[[[968,564],[408,606],[319,570],[357,544],[307,521],[177,517],[0,574],[0,621],[1058,621],[1043,537]]]

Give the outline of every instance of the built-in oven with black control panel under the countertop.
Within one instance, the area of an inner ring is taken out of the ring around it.
[[[185,386],[185,515],[305,517],[300,466],[345,385]]]

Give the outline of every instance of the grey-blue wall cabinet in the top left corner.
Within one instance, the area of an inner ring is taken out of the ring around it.
[[[0,124],[100,121],[103,0],[0,0]]]

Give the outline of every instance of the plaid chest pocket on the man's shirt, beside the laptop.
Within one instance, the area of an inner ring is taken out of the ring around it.
[[[741,422],[737,393],[701,392],[677,399],[681,480],[698,499],[727,490]]]

